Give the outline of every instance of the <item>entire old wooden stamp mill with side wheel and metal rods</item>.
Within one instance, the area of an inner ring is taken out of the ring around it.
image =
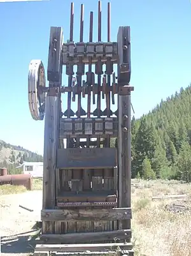
[[[101,1],[96,41],[93,41],[92,11],[89,41],[83,41],[83,4],[79,41],[73,38],[73,3],[69,40],[64,42],[62,27],[50,28],[48,86],[41,60],[29,64],[29,109],[33,119],[45,117],[41,244],[36,245],[35,251],[38,254],[133,255],[131,91],[134,88],[129,85],[130,27],[118,27],[117,40],[111,41],[110,9],[108,3],[106,42],[101,39]],[[64,66],[66,73],[62,72]],[[62,73],[67,76],[66,85]],[[61,100],[63,93],[67,102]],[[87,109],[81,107],[81,100],[87,102]],[[76,112],[71,107],[75,101]],[[111,104],[116,105],[115,112]],[[111,147],[113,140],[115,146]]]

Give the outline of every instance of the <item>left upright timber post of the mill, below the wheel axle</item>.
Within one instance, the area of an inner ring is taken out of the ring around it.
[[[58,147],[60,97],[46,96],[43,166],[43,209],[54,209],[56,193],[56,154]],[[43,222],[43,233],[54,232],[53,222]]]

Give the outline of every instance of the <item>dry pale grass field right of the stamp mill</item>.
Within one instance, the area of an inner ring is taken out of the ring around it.
[[[132,230],[136,256],[190,256],[191,211],[171,213],[166,204],[175,200],[152,201],[152,196],[191,194],[190,184],[178,181],[132,181]],[[178,202],[190,206],[190,202]]]

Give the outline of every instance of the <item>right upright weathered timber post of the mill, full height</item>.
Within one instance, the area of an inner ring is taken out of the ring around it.
[[[129,27],[118,29],[118,83],[121,86],[129,84],[131,76],[130,44],[124,53],[124,38],[130,43]],[[118,205],[131,207],[131,91],[128,95],[118,95]],[[131,221],[122,220],[120,229],[131,229]]]

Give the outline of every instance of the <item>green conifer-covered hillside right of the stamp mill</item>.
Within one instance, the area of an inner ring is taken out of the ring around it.
[[[132,177],[191,181],[191,86],[132,117]]]

